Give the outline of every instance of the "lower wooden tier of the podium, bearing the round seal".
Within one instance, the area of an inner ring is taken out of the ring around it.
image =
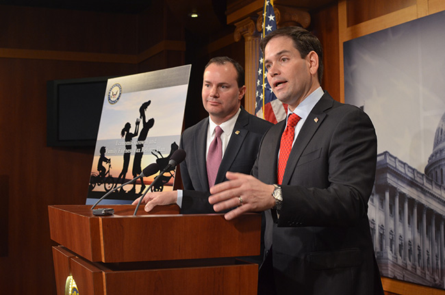
[[[131,268],[120,264],[90,262],[73,256],[62,246],[53,247],[58,295],[64,295],[66,278],[71,276],[79,294],[94,295],[255,295],[257,294],[257,264],[233,259],[231,264],[175,267],[175,261],[165,268]],[[56,267],[60,260],[66,266]],[[193,263],[192,263],[193,264]],[[160,265],[162,266],[162,264]],[[61,271],[62,270],[62,271]]]

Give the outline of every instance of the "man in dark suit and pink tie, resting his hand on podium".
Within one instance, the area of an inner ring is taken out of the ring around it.
[[[214,57],[207,63],[202,99],[209,117],[186,129],[181,136],[180,149],[186,151],[186,159],[181,163],[184,190],[149,192],[142,200],[146,211],[156,205],[177,203],[183,214],[212,213],[209,188],[227,180],[227,171],[251,172],[259,142],[272,123],[249,114],[240,106],[245,92],[244,69],[238,62],[229,57]],[[223,131],[220,135],[222,159],[212,171],[206,165],[207,155],[217,127]],[[210,180],[209,173],[213,175]]]

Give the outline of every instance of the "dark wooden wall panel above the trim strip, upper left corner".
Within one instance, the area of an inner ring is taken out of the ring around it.
[[[137,26],[125,14],[0,5],[0,48],[136,54]]]

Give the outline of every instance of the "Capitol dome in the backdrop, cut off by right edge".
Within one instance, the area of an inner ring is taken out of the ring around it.
[[[445,113],[435,130],[433,153],[428,158],[425,174],[440,184],[445,183]]]

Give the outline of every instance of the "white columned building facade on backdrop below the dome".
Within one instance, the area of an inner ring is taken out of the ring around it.
[[[445,187],[384,152],[368,203],[383,277],[445,287]]]

